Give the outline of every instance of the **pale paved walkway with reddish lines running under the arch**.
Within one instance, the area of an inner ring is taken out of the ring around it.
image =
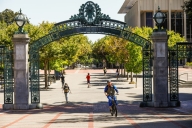
[[[87,88],[86,75],[91,74],[91,88]],[[115,70],[103,76],[102,70],[67,70],[66,82],[72,93],[65,103],[61,83],[53,83],[41,90],[43,109],[2,110],[3,92],[0,92],[0,128],[191,128],[192,88],[181,88],[181,107],[140,108],[142,79],[137,88],[126,78],[114,78]],[[118,117],[112,117],[103,94],[106,80],[119,88]],[[135,79],[134,79],[135,80]]]

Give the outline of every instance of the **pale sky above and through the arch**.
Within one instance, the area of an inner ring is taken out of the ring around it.
[[[89,0],[0,0],[0,12],[11,9],[14,12],[25,14],[30,23],[38,25],[43,21],[58,23],[69,20],[69,18],[79,13],[80,6]],[[118,14],[125,0],[91,0],[101,8],[101,13],[109,15],[111,19],[124,22],[125,14]],[[105,35],[88,34],[92,42]]]

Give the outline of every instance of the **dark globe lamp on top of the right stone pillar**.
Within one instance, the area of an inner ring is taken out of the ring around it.
[[[158,6],[158,11],[153,16],[153,19],[155,20],[158,27],[157,31],[161,31],[161,26],[165,22],[165,18],[165,14],[160,11],[160,7]]]

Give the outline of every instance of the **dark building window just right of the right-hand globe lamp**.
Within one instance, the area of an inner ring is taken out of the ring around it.
[[[171,12],[171,30],[184,35],[183,30],[183,13],[182,12]]]

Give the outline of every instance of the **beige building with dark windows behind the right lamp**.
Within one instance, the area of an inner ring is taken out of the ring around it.
[[[180,33],[192,42],[192,25],[181,8],[184,1],[186,0],[125,0],[118,13],[126,14],[124,19],[128,26],[154,27],[153,15],[159,6],[166,15],[163,27]]]

